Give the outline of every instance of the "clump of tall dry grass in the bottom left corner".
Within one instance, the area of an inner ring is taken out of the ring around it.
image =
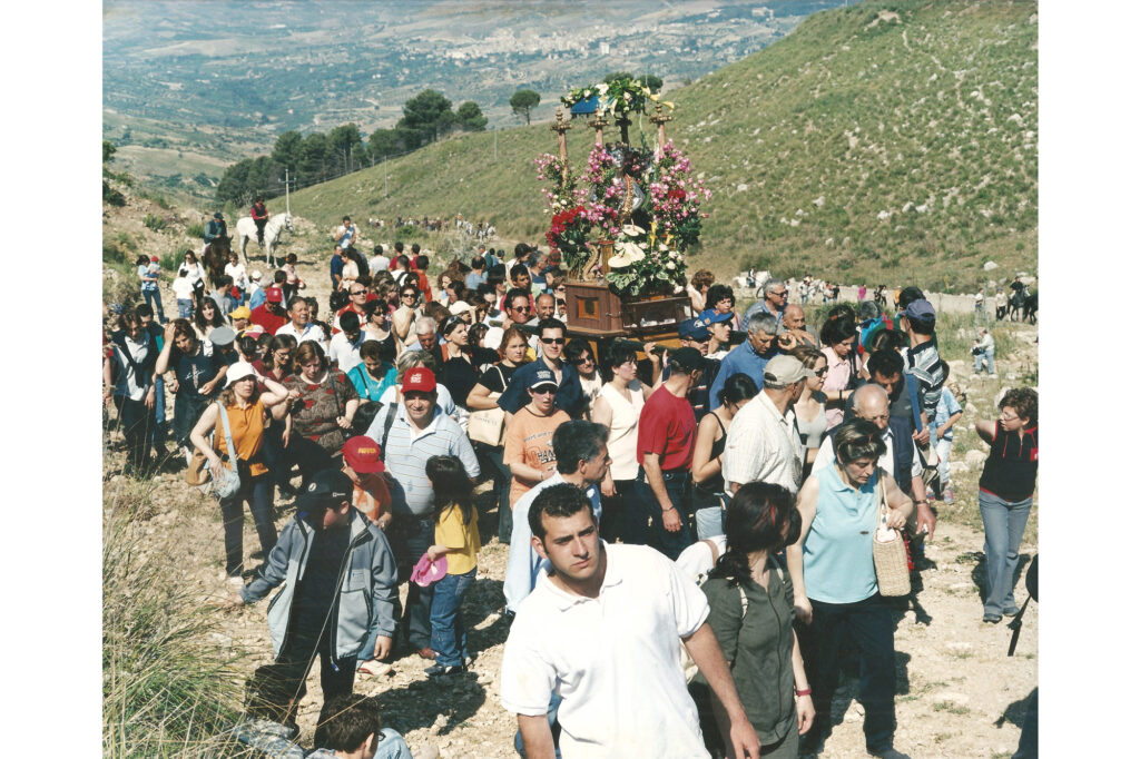
[[[142,539],[150,489],[123,484],[104,521],[104,756],[235,756],[222,748],[241,704],[234,656],[207,640],[214,610],[180,582],[173,552]]]

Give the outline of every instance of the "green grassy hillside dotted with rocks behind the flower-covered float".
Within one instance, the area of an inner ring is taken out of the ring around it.
[[[714,191],[690,266],[943,291],[1035,270],[1036,13],[1035,2],[861,3],[668,92],[669,136]],[[386,198],[376,166],[298,193],[295,210],[318,225],[463,213],[539,242],[532,161],[554,152],[554,134],[500,131],[497,162],[494,139],[391,161]],[[584,120],[569,140],[583,161]],[[987,260],[1000,268],[983,272]]]

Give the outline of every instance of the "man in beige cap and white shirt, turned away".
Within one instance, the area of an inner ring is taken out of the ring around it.
[[[806,449],[792,407],[807,376],[804,362],[791,356],[777,356],[764,368],[764,387],[728,425],[723,471],[731,492],[757,481],[799,490]]]

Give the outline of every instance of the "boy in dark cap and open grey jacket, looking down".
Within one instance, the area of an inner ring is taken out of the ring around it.
[[[325,701],[352,692],[356,659],[375,636],[372,652],[391,652],[396,632],[397,572],[388,538],[352,507],[352,481],[337,470],[317,472],[298,496],[296,516],[250,585],[233,599],[254,603],[285,582],[269,602],[274,658],[294,693],[320,658]]]

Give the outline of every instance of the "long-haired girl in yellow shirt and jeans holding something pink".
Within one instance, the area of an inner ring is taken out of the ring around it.
[[[479,514],[474,487],[455,456],[432,456],[427,479],[435,493],[435,545],[427,556],[447,556],[447,576],[435,583],[431,601],[431,647],[435,663],[427,677],[453,675],[467,669],[467,631],[463,626],[463,596],[475,581],[479,553]]]

